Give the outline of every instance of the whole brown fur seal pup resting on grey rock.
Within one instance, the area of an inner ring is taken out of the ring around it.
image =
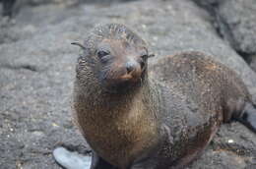
[[[148,68],[146,42],[119,24],[98,26],[76,44],[83,54],[74,112],[93,149],[91,169],[182,168],[224,122],[256,132],[246,86],[204,53],[166,56]]]

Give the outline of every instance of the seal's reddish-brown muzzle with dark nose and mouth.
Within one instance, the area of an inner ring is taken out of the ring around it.
[[[140,86],[147,71],[143,58],[119,57],[105,63],[99,72],[100,84],[107,92],[122,92]]]

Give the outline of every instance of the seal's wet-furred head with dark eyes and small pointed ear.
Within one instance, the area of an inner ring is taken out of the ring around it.
[[[78,44],[78,43],[74,43]],[[149,57],[145,41],[129,28],[119,24],[96,27],[85,43],[79,58],[77,77],[109,92],[125,90],[144,81]],[[94,80],[93,80],[94,79]]]

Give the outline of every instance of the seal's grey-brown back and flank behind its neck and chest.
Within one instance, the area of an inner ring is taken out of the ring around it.
[[[187,164],[212,140],[223,122],[242,116],[245,104],[251,103],[237,75],[200,52],[162,58],[150,75],[158,78],[159,116],[168,134],[156,168]]]

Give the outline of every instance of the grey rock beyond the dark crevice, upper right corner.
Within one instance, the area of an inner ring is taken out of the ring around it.
[[[238,53],[244,57],[256,54],[255,0],[194,1],[215,17],[221,35]]]

